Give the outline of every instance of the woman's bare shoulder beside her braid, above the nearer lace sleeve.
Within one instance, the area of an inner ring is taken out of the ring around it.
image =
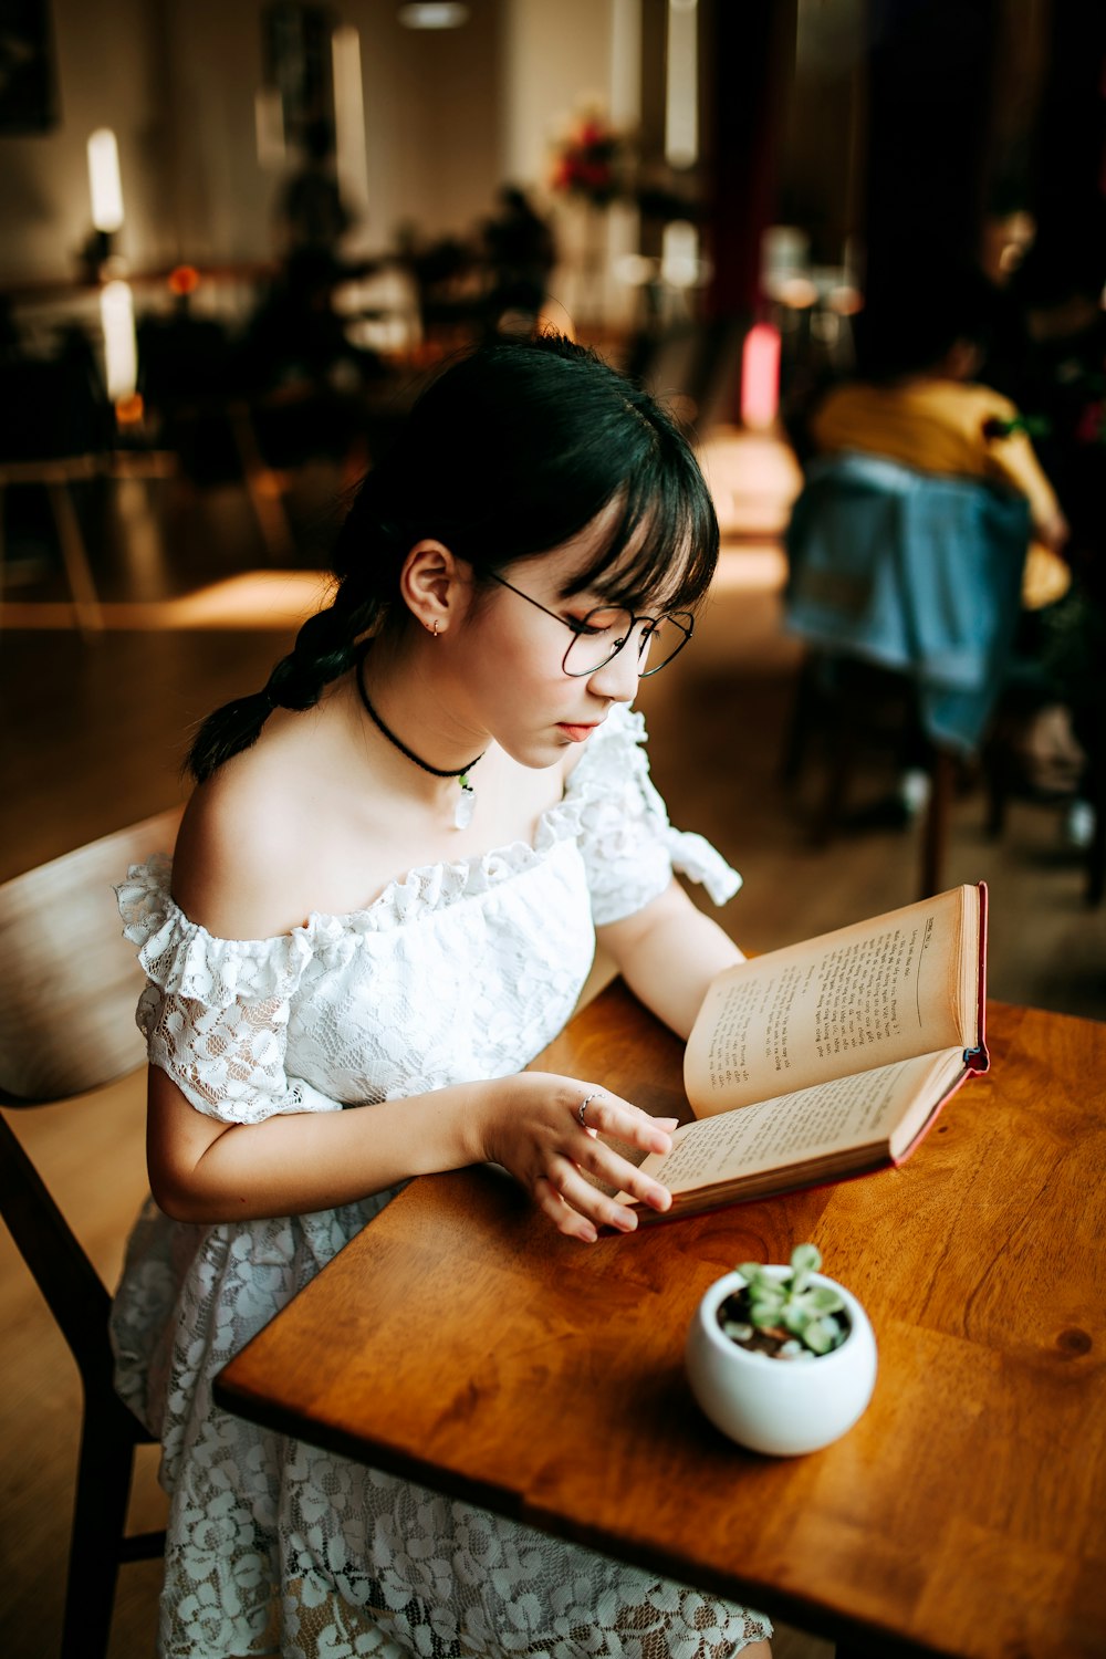
[[[295,927],[307,839],[285,745],[265,735],[201,783],[181,823],[172,894],[221,939],[270,939]]]

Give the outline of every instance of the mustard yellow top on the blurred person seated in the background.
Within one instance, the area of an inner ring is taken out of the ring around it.
[[[1011,421],[1016,415],[1010,398],[992,387],[919,377],[887,387],[837,387],[814,411],[811,435],[826,455],[861,450],[922,473],[1007,484],[1028,499],[1033,526],[1045,529],[1060,519],[1060,508],[1028,436],[983,433],[987,421]],[[1035,541],[1025,564],[1023,604],[1036,611],[1063,597],[1070,584],[1065,561]]]

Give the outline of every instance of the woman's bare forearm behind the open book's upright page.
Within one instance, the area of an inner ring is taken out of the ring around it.
[[[745,961],[675,878],[633,916],[599,927],[597,937],[633,994],[683,1039],[691,1034],[715,974]]]

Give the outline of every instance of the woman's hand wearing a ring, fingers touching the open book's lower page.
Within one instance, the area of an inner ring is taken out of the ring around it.
[[[587,1108],[580,1123],[584,1100]],[[594,1244],[600,1226],[632,1233],[637,1214],[592,1181],[657,1211],[672,1204],[668,1188],[642,1175],[604,1136],[667,1153],[672,1150],[670,1130],[678,1121],[653,1118],[595,1083],[552,1072],[521,1072],[488,1085],[481,1143],[484,1161],[502,1165],[560,1233]]]

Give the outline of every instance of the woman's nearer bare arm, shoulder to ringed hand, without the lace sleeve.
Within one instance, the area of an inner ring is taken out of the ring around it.
[[[290,728],[292,737],[298,730]],[[174,896],[194,922],[222,939],[277,936],[315,902],[317,810],[312,805],[300,821],[275,793],[297,770],[279,740],[277,730],[264,750],[257,745],[235,757],[201,786],[177,841]],[[308,760],[298,755],[300,771]],[[358,881],[363,891],[373,888],[370,873]],[[227,1123],[191,1105],[171,1077],[172,1063],[166,1055],[149,1073],[148,1165],[154,1198],[181,1221],[307,1214],[471,1163],[502,1165],[562,1233],[580,1239],[594,1239],[599,1226],[628,1231],[637,1224],[632,1209],[587,1176],[657,1209],[670,1203],[663,1186],[594,1131],[668,1151],[667,1128],[675,1121],[655,1120],[600,1090],[582,1126],[579,1105],[599,1087],[582,1078],[524,1072],[357,1110],[257,1112],[262,1121]]]

